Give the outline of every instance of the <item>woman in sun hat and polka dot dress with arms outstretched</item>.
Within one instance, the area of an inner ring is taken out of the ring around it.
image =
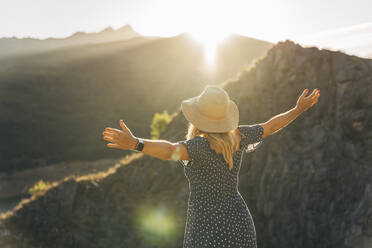
[[[184,248],[257,247],[249,209],[238,191],[243,151],[251,152],[268,135],[277,132],[313,106],[320,96],[305,89],[297,104],[269,121],[238,125],[239,111],[227,92],[208,85],[181,109],[189,121],[186,140],[176,143],[135,137],[121,120],[123,130],[106,128],[108,147],[138,150],[163,160],[179,161],[189,181],[190,194]]]

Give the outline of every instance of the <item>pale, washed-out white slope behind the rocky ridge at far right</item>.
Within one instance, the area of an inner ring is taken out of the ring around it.
[[[323,31],[296,38],[302,45],[339,50],[372,58],[372,23]]]

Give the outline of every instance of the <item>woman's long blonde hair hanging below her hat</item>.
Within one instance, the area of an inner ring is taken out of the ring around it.
[[[232,170],[234,166],[233,154],[240,148],[239,140],[236,135],[234,135],[233,130],[225,133],[204,132],[189,122],[186,139],[192,139],[195,136],[203,136],[207,138],[211,145],[222,151],[223,157],[229,165],[229,169]]]

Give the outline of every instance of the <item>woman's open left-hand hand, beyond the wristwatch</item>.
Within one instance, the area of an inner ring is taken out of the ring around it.
[[[102,133],[103,139],[111,143],[107,146],[110,148],[117,148],[122,150],[134,150],[137,145],[137,138],[132,134],[129,128],[120,120],[120,126],[123,130],[106,127]]]

